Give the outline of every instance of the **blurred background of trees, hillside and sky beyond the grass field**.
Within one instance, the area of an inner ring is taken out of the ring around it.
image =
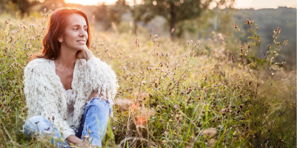
[[[273,44],[273,30],[281,28],[278,41],[288,40],[276,57],[286,60],[286,70],[296,70],[297,26],[296,0],[0,0],[1,17],[40,18],[59,7],[83,9],[97,31],[117,34],[151,34],[172,40],[211,38],[212,31],[222,34],[236,45],[252,42],[234,29],[248,33],[246,19],[254,20],[261,47]],[[262,51],[261,51],[262,52]],[[254,53],[258,56],[257,52]],[[260,56],[259,56],[260,57]]]

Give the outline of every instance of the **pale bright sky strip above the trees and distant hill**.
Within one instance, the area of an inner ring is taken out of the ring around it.
[[[98,5],[105,3],[106,5],[114,4],[117,0],[65,0],[66,3],[78,3],[82,5]],[[132,1],[132,0],[126,0]],[[142,0],[137,0],[139,4]],[[279,6],[287,6],[296,8],[297,0],[235,0],[234,8],[246,9],[262,9],[262,8],[278,8]]]

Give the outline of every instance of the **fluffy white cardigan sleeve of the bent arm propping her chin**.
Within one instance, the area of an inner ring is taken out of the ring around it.
[[[87,87],[92,91],[98,91],[96,97],[102,95],[102,99],[113,105],[113,99],[117,93],[118,81],[114,71],[99,58],[91,58],[87,61],[88,75],[86,77]]]

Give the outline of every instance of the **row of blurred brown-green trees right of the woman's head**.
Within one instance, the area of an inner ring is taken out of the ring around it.
[[[140,21],[148,23],[156,16],[166,19],[170,37],[175,37],[177,24],[199,18],[209,7],[229,8],[235,0],[134,0],[132,6],[126,0],[118,0],[113,6],[102,4],[94,12],[96,20],[104,23],[104,28],[111,27],[111,22],[120,23],[122,14],[130,12],[133,18],[134,33]]]

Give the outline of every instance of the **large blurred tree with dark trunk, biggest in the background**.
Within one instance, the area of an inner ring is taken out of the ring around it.
[[[163,16],[169,27],[170,37],[174,37],[176,24],[198,18],[209,6],[219,8],[232,6],[234,0],[145,0],[143,20],[150,21],[157,15]]]

